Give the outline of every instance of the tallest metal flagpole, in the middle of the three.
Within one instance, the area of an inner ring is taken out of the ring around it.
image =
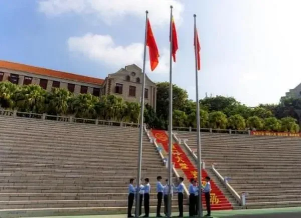
[[[173,169],[173,83],[172,83],[172,53],[173,53],[173,6],[171,6],[170,26],[170,94],[169,94],[169,151],[168,151],[168,217],[172,216],[172,169]]]

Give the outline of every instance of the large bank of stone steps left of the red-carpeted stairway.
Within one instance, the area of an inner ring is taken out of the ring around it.
[[[168,172],[146,135],[143,145],[154,212],[156,177]],[[1,217],[126,213],[137,153],[138,128],[0,116]]]

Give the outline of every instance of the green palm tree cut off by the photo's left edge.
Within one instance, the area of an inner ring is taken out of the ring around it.
[[[15,105],[15,93],[20,87],[11,82],[0,83],[0,107],[12,109]]]

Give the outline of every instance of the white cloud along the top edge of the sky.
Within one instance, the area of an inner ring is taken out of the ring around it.
[[[48,16],[59,16],[66,13],[94,14],[107,24],[113,19],[126,15],[143,19],[148,10],[154,26],[169,24],[170,6],[173,15],[180,25],[184,5],[179,0],[43,0],[39,3],[39,11]]]

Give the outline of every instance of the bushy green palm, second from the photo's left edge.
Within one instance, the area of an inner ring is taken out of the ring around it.
[[[24,112],[44,113],[46,95],[39,85],[22,86],[15,92],[16,107]]]

